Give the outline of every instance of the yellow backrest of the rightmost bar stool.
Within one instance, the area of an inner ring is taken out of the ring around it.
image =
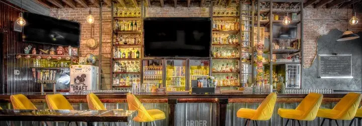
[[[354,118],[359,102],[361,100],[360,93],[350,92],[333,107],[334,110],[339,110],[340,114],[336,118],[341,120],[350,120]]]

